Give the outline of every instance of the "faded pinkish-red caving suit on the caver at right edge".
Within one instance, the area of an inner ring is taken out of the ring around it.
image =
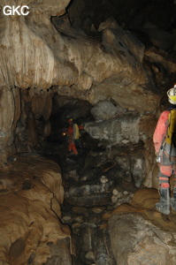
[[[153,134],[153,142],[157,156],[160,153],[160,148],[162,147],[166,137],[167,127],[169,124],[169,114],[169,110],[165,110],[161,113],[157,121],[155,133]],[[165,147],[161,152],[161,163],[159,164],[159,170],[159,187],[170,187],[169,177],[172,175],[172,173],[175,175],[175,163],[170,161],[169,155],[165,152]]]

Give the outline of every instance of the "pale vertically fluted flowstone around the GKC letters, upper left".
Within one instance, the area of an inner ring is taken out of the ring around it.
[[[9,1],[10,5],[12,3]],[[63,14],[68,3],[68,0],[42,1],[40,4],[37,1],[26,1],[23,2],[29,6],[29,15],[26,17],[1,14],[1,87],[46,88],[52,84],[73,83],[71,68],[65,66],[59,56],[55,57],[56,45],[50,48],[50,42],[58,42],[57,53],[65,49],[62,38],[51,25],[50,16]],[[2,6],[5,4],[8,4],[7,1],[3,1]],[[20,1],[16,1],[16,4],[20,4]],[[40,15],[42,27],[37,25]],[[50,37],[55,38],[55,35],[57,40],[51,41]],[[49,42],[45,42],[45,38]],[[8,65],[7,68],[5,65]]]

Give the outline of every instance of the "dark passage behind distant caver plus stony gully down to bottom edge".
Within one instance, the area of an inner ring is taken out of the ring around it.
[[[64,135],[68,120],[72,117],[78,125],[95,122],[89,102],[55,95],[50,116],[51,133],[44,140],[43,152],[57,162],[62,170],[65,200],[61,205],[62,222],[72,230],[77,257],[75,264],[91,264],[94,261],[92,246],[87,237],[101,239],[99,227],[103,213],[119,204],[131,201],[137,191],[130,168],[126,168],[126,150],[118,148],[118,161],[109,157],[105,141],[92,138],[86,130],[80,130],[81,148],[78,155],[68,151]],[[129,151],[130,152],[130,151]],[[89,235],[88,235],[89,234]],[[106,254],[101,240],[97,243]],[[96,251],[97,246],[94,246]],[[113,255],[112,255],[113,256]],[[81,263],[82,262],[82,263]]]

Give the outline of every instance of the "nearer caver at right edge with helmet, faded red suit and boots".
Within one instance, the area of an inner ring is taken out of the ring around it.
[[[160,202],[157,202],[156,208],[159,212],[169,215],[170,204],[172,209],[176,211],[176,182],[173,187],[173,197],[170,201],[170,183],[169,178],[172,174],[176,175],[176,148],[166,142],[167,130],[169,125],[169,115],[171,110],[176,109],[176,86],[172,87],[168,92],[169,102],[172,103],[170,109],[161,113],[155,133],[153,135],[154,147],[157,155],[157,163],[159,163],[159,193]],[[176,177],[175,177],[176,178]]]

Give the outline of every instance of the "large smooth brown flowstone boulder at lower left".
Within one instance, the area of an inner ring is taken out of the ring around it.
[[[41,265],[60,239],[67,261],[62,264],[71,264],[70,243],[64,240],[70,239],[70,231],[59,221],[64,188],[57,163],[40,155],[11,160],[8,170],[1,171],[0,264]]]

